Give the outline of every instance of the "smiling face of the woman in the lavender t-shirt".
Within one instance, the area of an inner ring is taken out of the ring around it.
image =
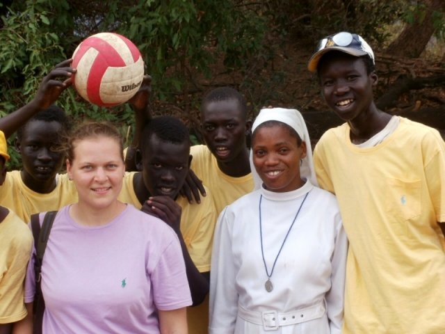
[[[114,205],[125,170],[120,143],[115,138],[93,136],[74,141],[73,147],[67,173],[76,185],[79,205],[92,210]]]

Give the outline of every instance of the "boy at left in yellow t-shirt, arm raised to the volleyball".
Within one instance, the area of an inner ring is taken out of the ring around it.
[[[53,105],[71,86],[75,70],[69,65],[70,60],[56,65],[29,104],[0,119],[6,138],[19,129],[16,148],[23,162],[22,170],[6,173],[0,205],[13,209],[25,222],[31,214],[58,209],[77,198],[72,182],[58,175],[65,157],[54,149],[70,125],[65,111]]]

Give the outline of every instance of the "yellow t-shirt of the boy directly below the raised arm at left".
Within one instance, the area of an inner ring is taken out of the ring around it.
[[[36,193],[22,181],[19,170],[6,173],[6,180],[0,186],[0,205],[13,210],[19,218],[28,223],[31,214],[58,210],[77,202],[76,186],[66,174],[58,174],[56,188],[51,193]]]

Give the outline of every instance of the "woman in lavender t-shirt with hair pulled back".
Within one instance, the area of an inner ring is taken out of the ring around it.
[[[67,143],[67,174],[79,202],[60,209],[49,235],[42,333],[187,333],[192,302],[175,232],[117,200],[124,175],[117,129],[102,122],[76,129]],[[27,273],[32,333],[33,260]]]

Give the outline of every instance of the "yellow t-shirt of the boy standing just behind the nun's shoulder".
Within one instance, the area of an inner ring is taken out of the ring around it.
[[[190,150],[193,155],[191,169],[200,177],[204,186],[213,193],[218,214],[235,200],[250,193],[254,189],[252,173],[242,177],[231,177],[223,173],[218,167],[206,145],[195,145]]]

